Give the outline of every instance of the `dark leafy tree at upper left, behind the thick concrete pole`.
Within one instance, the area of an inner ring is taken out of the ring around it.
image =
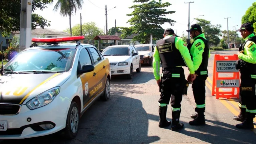
[[[33,0],[32,1],[32,29],[37,26],[44,28],[50,26],[42,16],[33,13],[37,8],[43,10],[46,5],[52,3],[53,0]],[[8,37],[11,31],[20,30],[20,7],[21,0],[0,0],[0,31],[3,37]]]

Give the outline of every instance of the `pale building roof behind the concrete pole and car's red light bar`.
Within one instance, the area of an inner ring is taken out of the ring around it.
[[[12,31],[12,33],[20,33],[19,31]],[[47,34],[47,35],[70,35],[67,32],[59,31],[56,29],[50,29],[50,28],[35,28],[31,30],[31,34]]]

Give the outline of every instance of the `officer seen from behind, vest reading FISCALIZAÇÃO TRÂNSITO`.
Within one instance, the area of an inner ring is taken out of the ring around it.
[[[179,123],[181,112],[181,100],[186,80],[184,69],[187,66],[191,80],[196,78],[193,61],[182,38],[174,36],[171,28],[164,30],[164,38],[156,43],[153,58],[153,73],[160,89],[159,104],[159,127],[171,125],[171,130],[183,128]],[[160,79],[160,61],[162,63],[162,75]],[[172,122],[166,120],[167,105],[171,99]]]

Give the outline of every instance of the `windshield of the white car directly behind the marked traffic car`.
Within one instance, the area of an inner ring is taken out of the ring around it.
[[[106,47],[102,55],[103,56],[129,55],[129,49],[127,46]]]

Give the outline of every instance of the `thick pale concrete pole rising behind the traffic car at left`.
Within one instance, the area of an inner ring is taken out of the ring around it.
[[[29,48],[31,45],[31,13],[32,1],[21,0],[19,51]]]

